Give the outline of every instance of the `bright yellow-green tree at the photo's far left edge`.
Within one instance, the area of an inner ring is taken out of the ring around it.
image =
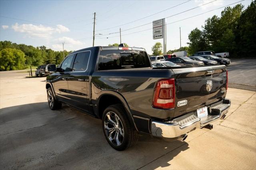
[[[4,48],[0,51],[0,70],[24,69],[25,60],[25,54],[21,50]]]

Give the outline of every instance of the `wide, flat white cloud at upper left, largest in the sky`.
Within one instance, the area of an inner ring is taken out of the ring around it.
[[[69,32],[70,30],[62,25],[57,25],[56,28],[43,26],[43,25],[33,25],[33,24],[22,24],[18,23],[12,26],[15,32],[22,32],[28,35],[31,38],[39,37],[39,38],[50,38],[52,34],[58,32]]]

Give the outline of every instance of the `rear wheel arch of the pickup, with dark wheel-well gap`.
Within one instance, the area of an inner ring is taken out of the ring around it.
[[[108,99],[108,100],[106,100]],[[94,108],[94,111],[96,109],[96,113],[98,118],[102,119],[102,114],[104,110],[114,104],[122,104],[124,109],[126,110],[126,115],[128,117],[128,120],[130,121],[130,124],[138,131],[138,128],[136,127],[136,124],[134,122],[134,119],[132,117],[132,112],[130,110],[130,107],[125,100],[125,98],[122,96],[122,94],[118,93],[117,91],[112,90],[104,90],[100,93],[100,96],[98,97],[96,108]]]

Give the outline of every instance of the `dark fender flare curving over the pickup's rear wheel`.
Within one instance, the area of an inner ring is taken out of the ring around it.
[[[136,127],[135,121],[134,121],[134,119],[133,119],[133,117],[132,117],[131,109],[130,109],[130,107],[129,107],[127,101],[126,101],[126,99],[124,98],[124,96],[123,96],[121,93],[119,93],[118,91],[114,91],[114,90],[102,90],[102,91],[99,93],[99,97],[98,97],[98,99],[97,99],[97,101],[96,101],[96,106],[97,106],[97,113],[98,113],[98,115],[99,115],[99,107],[98,107],[98,105],[99,105],[100,99],[101,99],[101,97],[102,97],[103,95],[112,95],[112,96],[114,96],[114,97],[117,97],[117,98],[121,101],[122,105],[124,106],[124,109],[126,110],[126,113],[127,113],[127,116],[128,116],[128,119],[129,119],[130,123],[133,123],[134,128],[138,131],[138,128]]]

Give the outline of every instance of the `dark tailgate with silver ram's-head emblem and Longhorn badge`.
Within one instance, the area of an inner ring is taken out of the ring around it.
[[[215,103],[226,96],[226,66],[172,69],[176,80],[174,117]]]

